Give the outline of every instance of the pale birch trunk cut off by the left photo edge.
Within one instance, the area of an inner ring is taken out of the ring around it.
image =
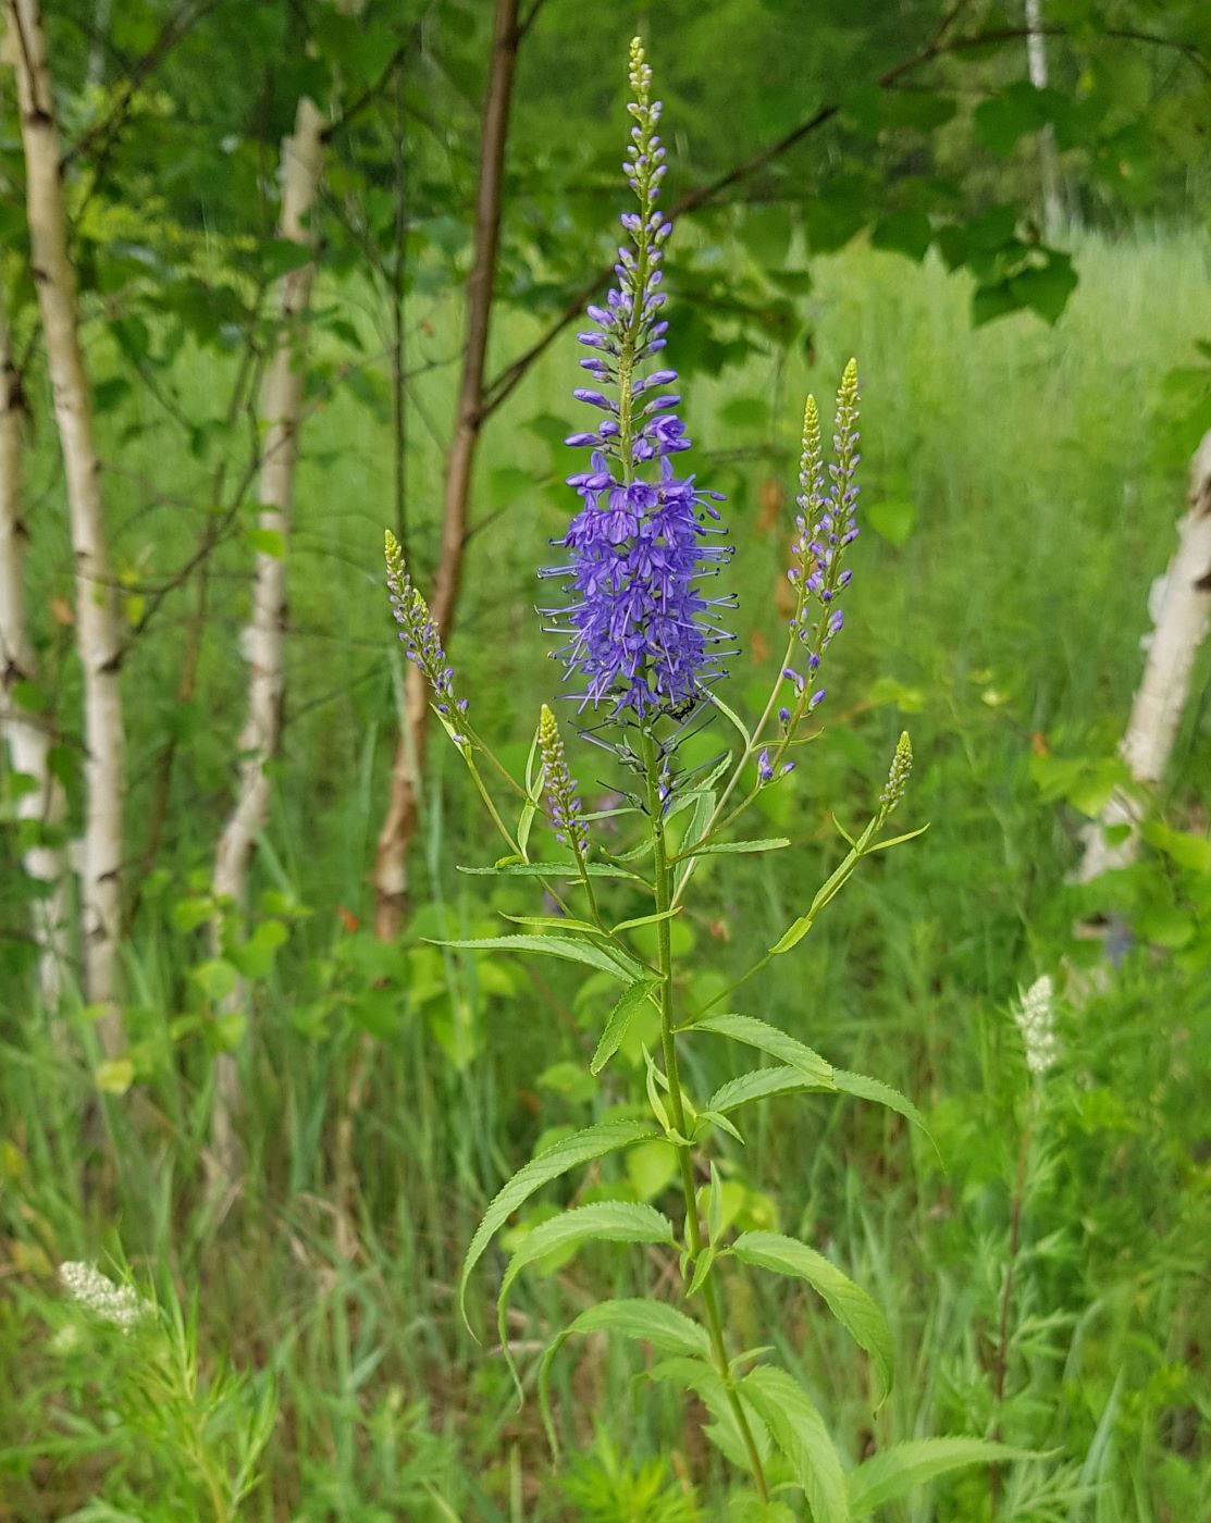
[[[24,559],[27,532],[23,507],[24,408],[17,370],[9,352],[8,321],[0,299],[0,730],[9,748],[12,771],[34,784],[17,801],[20,819],[62,825],[67,801],[50,772],[52,733],[43,714],[18,702],[20,682],[38,676],[26,621]],[[34,938],[38,944],[38,988],[47,1010],[62,993],[67,961],[67,883],[64,853],[58,845],[37,844],[23,856],[26,873],[44,885],[34,903]]]

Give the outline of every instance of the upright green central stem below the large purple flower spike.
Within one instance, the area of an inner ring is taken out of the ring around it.
[[[644,731],[643,734],[643,763],[647,777],[647,816],[652,825],[657,914],[664,917],[657,921],[660,949],[658,967],[661,973],[660,1045],[664,1055],[664,1077],[669,1080],[669,1113],[678,1136],[684,1138],[687,1135],[685,1104],[681,1098],[681,1074],[676,1063],[676,1037],[673,1036],[673,934],[672,923],[667,918],[672,902],[672,871],[669,868],[669,850],[664,842],[664,815],[660,797],[660,758],[657,755],[657,745],[650,731]],[[676,1145],[676,1157],[678,1168],[681,1171],[681,1189],[685,1196],[685,1241],[690,1256],[696,1260],[702,1252],[702,1224],[698,1220],[698,1194],[693,1183],[693,1148],[689,1142],[679,1142]],[[740,1438],[743,1439],[748,1461],[752,1467],[752,1480],[762,1502],[766,1502],[769,1493],[765,1482],[765,1471],[762,1470],[762,1456],[757,1451],[752,1429],[748,1424],[748,1416],[745,1415],[743,1404],[740,1403],[740,1395],[736,1390],[736,1381],[731,1377],[727,1343],[724,1342],[724,1322],[719,1314],[719,1299],[714,1293],[714,1281],[710,1279],[710,1276],[702,1285],[702,1310],[705,1313],[707,1333],[711,1340],[711,1349],[714,1351],[714,1363],[719,1371],[719,1378],[724,1381],[728,1406],[736,1418],[736,1427],[740,1430]]]

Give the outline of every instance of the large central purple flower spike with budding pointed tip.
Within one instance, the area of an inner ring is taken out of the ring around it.
[[[609,417],[596,434],[573,434],[568,445],[593,445],[593,471],[568,477],[580,512],[564,539],[564,565],[544,576],[564,580],[567,602],[544,608],[551,634],[565,637],[556,652],[568,676],[582,684],[580,708],[606,705],[611,719],[643,722],[653,714],[681,717],[719,678],[717,664],[731,635],[716,609],[733,597],[707,597],[730,550],[717,544],[719,493],[678,475],[670,455],[690,448],[676,416],[679,398],[652,396],[672,385],[670,369],[643,373],[664,347],[667,321],[661,285],[663,245],[672,224],[657,210],[664,148],[657,136],[660,102],[650,99],[652,72],[638,41],[631,46],[631,116],[625,174],[640,210],[621,218],[628,244],[614,267],[618,283],[605,305],[588,308],[596,330],[579,335],[594,352],[591,369],[614,394],[577,387],[574,396]],[[660,461],[660,469],[655,463]],[[644,478],[644,472],[650,480]]]

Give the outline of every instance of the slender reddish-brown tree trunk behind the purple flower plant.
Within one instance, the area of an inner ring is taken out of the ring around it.
[[[484,422],[484,358],[497,276],[501,180],[518,41],[518,0],[497,0],[475,198],[475,253],[466,283],[463,370],[454,439],[446,460],[440,559],[430,599],[430,611],[443,638],[449,634],[459,603],[471,477]],[[375,859],[375,929],[384,940],[399,932],[407,909],[408,845],[416,833],[417,786],[425,762],[428,720],[425,685],[410,666],[404,681],[404,714],[391,766],[390,801]]]

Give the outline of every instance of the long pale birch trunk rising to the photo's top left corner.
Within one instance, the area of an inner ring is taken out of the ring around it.
[[[107,1052],[122,1040],[117,946],[122,926],[122,621],[110,576],[101,498],[101,461],[93,436],[93,399],[79,346],[75,271],[67,257],[67,216],[59,184],[59,134],[46,61],[38,0],[8,0],[15,55],[26,207],[34,283],[38,289],[55,417],[67,477],[72,548],[76,557],[76,637],[84,669],[84,780],[81,847],[84,988],[105,1007],[99,1036]]]

